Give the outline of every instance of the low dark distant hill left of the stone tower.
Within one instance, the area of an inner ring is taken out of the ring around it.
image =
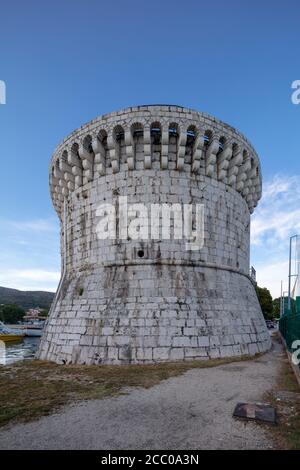
[[[0,304],[17,304],[27,310],[28,308],[50,308],[54,292],[22,291],[0,286]]]

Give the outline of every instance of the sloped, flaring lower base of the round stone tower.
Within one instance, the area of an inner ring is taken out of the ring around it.
[[[41,359],[147,363],[251,355],[270,347],[253,285],[235,272],[140,264],[86,272],[67,284]]]

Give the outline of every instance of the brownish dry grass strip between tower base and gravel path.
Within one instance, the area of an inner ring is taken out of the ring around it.
[[[0,367],[0,426],[31,421],[78,400],[117,395],[127,387],[150,388],[189,369],[216,367],[254,357],[122,366],[24,361]]]

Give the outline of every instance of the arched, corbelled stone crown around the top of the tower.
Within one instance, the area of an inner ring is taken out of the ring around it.
[[[144,105],[100,116],[57,147],[50,165],[53,204],[61,216],[64,198],[95,178],[153,169],[221,181],[245,199],[250,213],[261,197],[259,158],[240,132],[191,109]]]

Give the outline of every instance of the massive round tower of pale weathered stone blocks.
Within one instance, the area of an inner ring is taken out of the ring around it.
[[[50,188],[62,276],[40,359],[146,363],[270,347],[249,277],[260,163],[237,130],[180,106],[113,112],[58,146]],[[153,204],[169,218],[152,216]],[[195,244],[180,236],[184,218]]]

